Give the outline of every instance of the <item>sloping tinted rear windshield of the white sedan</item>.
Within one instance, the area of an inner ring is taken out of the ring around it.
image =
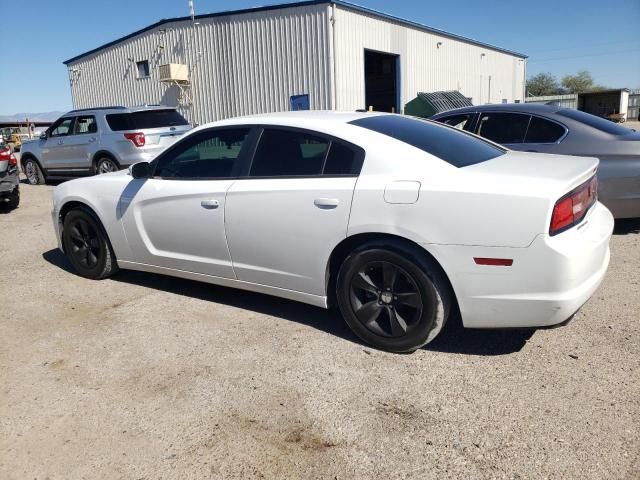
[[[365,117],[351,124],[408,143],[455,167],[475,165],[505,153],[505,150],[455,128],[401,115]]]

